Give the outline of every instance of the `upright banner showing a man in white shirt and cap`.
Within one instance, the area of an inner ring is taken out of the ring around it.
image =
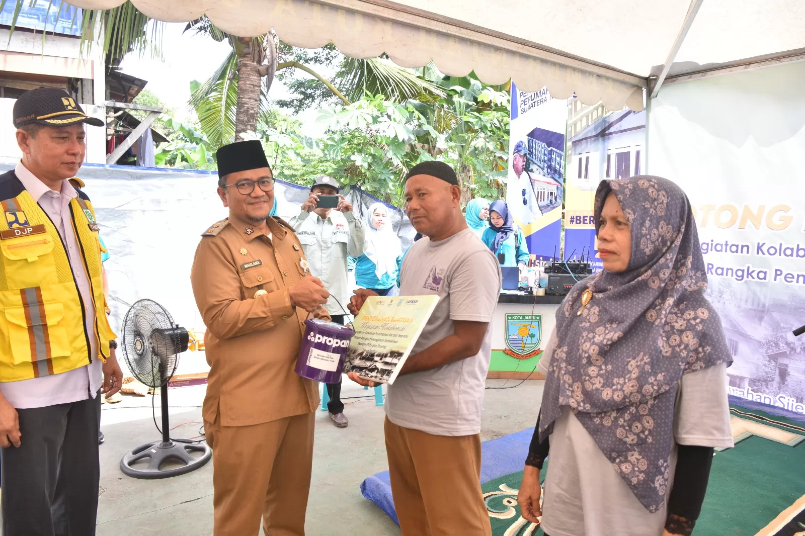
[[[559,256],[568,101],[511,85],[506,203],[538,261]]]

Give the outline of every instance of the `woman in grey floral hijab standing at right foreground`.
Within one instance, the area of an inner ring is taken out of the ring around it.
[[[604,270],[564,299],[539,361],[543,403],[518,496],[550,536],[691,534],[713,447],[732,447],[720,320],[687,197],[602,181]],[[539,469],[551,458],[540,505]]]

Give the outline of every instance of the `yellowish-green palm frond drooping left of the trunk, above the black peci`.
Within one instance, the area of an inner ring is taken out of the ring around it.
[[[204,84],[192,87],[190,105],[196,109],[210,150],[234,141],[237,112],[237,56],[234,51]]]

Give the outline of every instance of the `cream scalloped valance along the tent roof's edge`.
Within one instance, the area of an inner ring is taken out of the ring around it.
[[[122,1],[71,3],[85,9],[109,9]],[[487,84],[500,85],[511,79],[522,91],[538,91],[546,86],[556,98],[576,93],[585,104],[603,101],[608,109],[621,109],[625,105],[643,109],[645,79],[618,73],[606,76],[608,68],[538,51],[501,36],[485,36],[485,42],[481,42],[464,37],[477,35],[461,27],[452,28],[452,35],[435,31],[431,20],[412,24],[416,19],[408,18],[403,23],[306,0],[132,0],[132,3],[152,19],[186,22],[207,14],[217,27],[233,35],[260,35],[274,28],[281,39],[295,47],[318,48],[332,42],[346,56],[354,58],[386,52],[394,63],[403,67],[418,68],[433,61],[441,72],[452,76],[466,76],[474,70]]]

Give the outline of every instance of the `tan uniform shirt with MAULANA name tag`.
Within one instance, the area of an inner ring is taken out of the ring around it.
[[[288,288],[309,271],[299,239],[269,218],[270,237],[219,221],[202,236],[190,274],[207,326],[210,365],[204,420],[249,426],[309,413],[319,404],[315,381],[294,373],[308,312],[291,307]],[[268,294],[254,297],[258,290]],[[312,315],[328,318],[320,309]]]

